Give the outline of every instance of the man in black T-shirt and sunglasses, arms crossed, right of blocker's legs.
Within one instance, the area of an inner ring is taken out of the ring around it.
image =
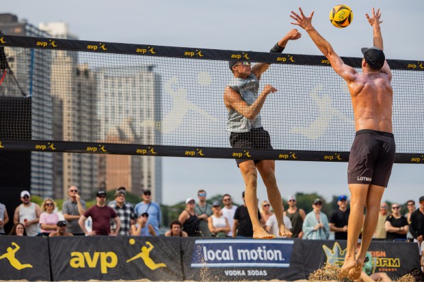
[[[401,206],[399,203],[392,203],[392,214],[387,216],[386,222],[386,240],[388,241],[406,241],[408,233],[408,220],[401,215]]]

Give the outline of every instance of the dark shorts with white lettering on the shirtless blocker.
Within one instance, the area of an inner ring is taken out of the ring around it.
[[[348,184],[387,187],[395,162],[395,137],[377,130],[358,130],[349,154]]]

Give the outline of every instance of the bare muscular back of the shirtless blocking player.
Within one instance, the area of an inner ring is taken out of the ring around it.
[[[354,75],[352,81],[346,80],[354,108],[356,131],[372,129],[393,132],[391,73],[365,71]]]

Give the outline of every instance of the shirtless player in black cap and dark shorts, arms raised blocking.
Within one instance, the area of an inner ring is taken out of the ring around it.
[[[313,27],[310,16],[291,12],[296,20],[293,25],[302,27],[330,61],[334,71],[347,82],[354,108],[356,137],[349,155],[347,178],[352,193],[350,216],[347,228],[347,252],[339,272],[339,279],[360,277],[362,265],[375,227],[377,225],[380,201],[387,187],[395,160],[395,139],[392,134],[393,89],[390,85],[392,73],[383,53],[383,39],[380,31],[380,9],[368,14],[373,27],[371,48],[362,48],[362,74],[343,63],[332,46]],[[367,213],[364,219],[364,208]],[[362,231],[362,241],[355,255],[356,242]]]

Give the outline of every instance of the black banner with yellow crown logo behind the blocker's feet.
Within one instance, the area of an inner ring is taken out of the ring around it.
[[[324,263],[343,265],[346,241],[302,240],[302,260],[306,275]],[[386,272],[392,279],[399,279],[410,270],[419,268],[419,251],[416,243],[372,241],[369,252],[373,257],[373,272]],[[313,255],[311,255],[313,254]]]

